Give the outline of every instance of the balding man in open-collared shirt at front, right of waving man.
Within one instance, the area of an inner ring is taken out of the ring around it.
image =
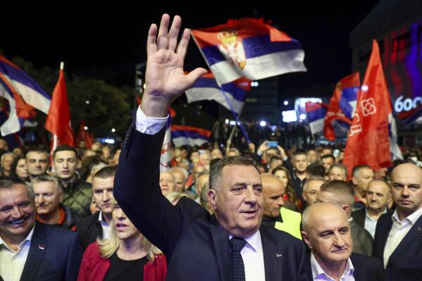
[[[303,213],[308,280],[383,280],[380,261],[353,251],[347,214],[332,203],[316,203]]]

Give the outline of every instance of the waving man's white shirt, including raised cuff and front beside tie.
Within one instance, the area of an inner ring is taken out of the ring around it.
[[[147,117],[138,107],[136,113],[136,130],[147,135],[155,135],[167,123],[167,117],[156,118]],[[229,239],[232,238],[230,235]],[[261,243],[261,233],[255,232],[249,238],[245,238],[247,244],[243,247],[240,254],[244,264],[244,275],[247,281],[264,281],[265,267],[263,265],[263,250]]]

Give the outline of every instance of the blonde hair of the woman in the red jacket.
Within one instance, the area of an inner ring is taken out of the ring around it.
[[[116,203],[116,201],[115,201]],[[113,220],[110,223],[110,228],[108,229],[108,238],[101,239],[97,238],[97,243],[99,246],[99,254],[103,258],[110,258],[118,249],[120,245],[120,240],[117,237],[116,229],[114,228]],[[162,254],[159,248],[151,244],[147,238],[142,235],[141,245],[145,251],[147,251],[147,257],[149,261],[154,261],[154,258],[158,254]]]

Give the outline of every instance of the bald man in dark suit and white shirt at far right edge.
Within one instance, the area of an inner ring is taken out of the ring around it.
[[[404,163],[392,170],[391,194],[397,206],[378,220],[374,255],[385,280],[422,280],[422,170]]]

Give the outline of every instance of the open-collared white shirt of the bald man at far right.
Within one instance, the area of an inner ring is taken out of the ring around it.
[[[416,223],[416,220],[422,215],[422,208],[418,211],[412,213],[407,218],[400,220],[399,213],[394,211],[392,213],[392,227],[390,233],[387,237],[387,242],[385,243],[384,248],[384,268],[387,267],[388,259],[395,251],[397,246],[399,246],[400,242],[402,242],[403,238],[407,235],[407,232],[411,229],[411,227]]]

